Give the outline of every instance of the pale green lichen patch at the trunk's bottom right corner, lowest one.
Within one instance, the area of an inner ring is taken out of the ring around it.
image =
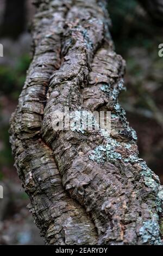
[[[162,245],[157,216],[153,216],[152,220],[143,222],[143,226],[139,229],[139,234],[143,243],[147,243],[148,245]]]

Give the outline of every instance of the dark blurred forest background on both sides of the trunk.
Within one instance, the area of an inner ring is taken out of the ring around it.
[[[127,92],[121,94],[130,125],[139,138],[140,157],[160,176],[163,185],[163,26],[155,25],[136,0],[109,0],[111,34],[116,52],[127,62]],[[30,64],[29,28],[32,0],[0,0],[0,244],[41,245],[43,240],[26,206],[9,144],[9,119],[17,105]]]

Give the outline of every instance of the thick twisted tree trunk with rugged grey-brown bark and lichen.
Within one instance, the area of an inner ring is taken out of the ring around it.
[[[35,1],[34,56],[11,117],[15,166],[35,223],[53,245],[158,245],[162,192],[139,159],[118,94],[105,1]],[[54,113],[111,111],[111,133],[54,129]]]

